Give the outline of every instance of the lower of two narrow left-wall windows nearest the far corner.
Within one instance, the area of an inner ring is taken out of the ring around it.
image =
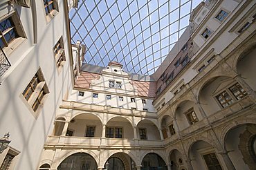
[[[59,41],[57,41],[57,43],[55,44],[53,48],[53,53],[55,54],[55,61],[57,67],[63,66],[64,62],[66,61],[66,58],[62,37],[60,37]]]

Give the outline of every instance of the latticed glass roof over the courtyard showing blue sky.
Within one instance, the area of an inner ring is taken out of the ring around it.
[[[116,61],[152,75],[188,26],[201,0],[80,0],[70,12],[71,38],[86,45],[85,62]]]

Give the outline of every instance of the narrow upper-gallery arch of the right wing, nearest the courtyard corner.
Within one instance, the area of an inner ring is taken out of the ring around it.
[[[174,125],[172,123],[172,118],[169,115],[165,115],[161,121],[161,130],[163,133],[163,138],[168,138],[175,134]]]

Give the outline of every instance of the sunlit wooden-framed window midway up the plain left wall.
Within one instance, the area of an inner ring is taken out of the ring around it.
[[[39,68],[34,77],[30,80],[28,86],[26,86],[23,91],[25,99],[28,101],[28,104],[32,106],[33,111],[36,112],[39,106],[43,106],[44,96],[49,93],[46,82],[42,75],[42,71]]]

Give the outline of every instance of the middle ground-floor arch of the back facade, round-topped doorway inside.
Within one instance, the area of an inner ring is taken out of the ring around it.
[[[136,164],[126,153],[115,153],[104,164],[104,169],[130,170],[136,169]]]

